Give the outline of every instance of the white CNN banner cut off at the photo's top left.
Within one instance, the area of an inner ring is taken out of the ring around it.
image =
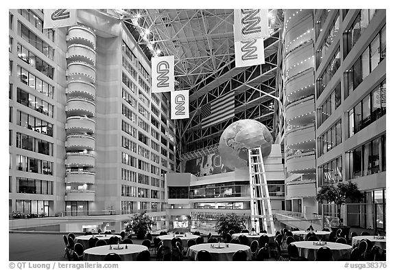
[[[44,10],[44,28],[58,28],[77,24],[77,10]]]

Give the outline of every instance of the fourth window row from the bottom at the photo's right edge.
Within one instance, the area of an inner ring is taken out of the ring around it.
[[[386,27],[377,34],[368,45],[354,65],[344,73],[344,88],[346,97],[357,89],[361,82],[372,72],[385,58],[385,32]]]

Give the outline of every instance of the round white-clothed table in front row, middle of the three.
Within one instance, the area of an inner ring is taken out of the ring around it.
[[[214,248],[211,247],[211,245],[214,245]],[[226,247],[225,243],[220,243],[219,246],[222,248],[215,248],[218,247],[218,243],[204,243],[204,244],[199,244],[199,245],[193,245],[189,247],[187,251],[187,257],[191,258],[192,260],[196,260],[196,255],[197,252],[200,250],[206,250],[210,252],[211,254],[211,260],[232,260],[233,254],[235,254],[236,251],[243,250],[247,252],[247,260],[251,260],[252,258],[252,252],[250,247],[246,245],[239,245],[239,244],[228,244],[229,247]]]

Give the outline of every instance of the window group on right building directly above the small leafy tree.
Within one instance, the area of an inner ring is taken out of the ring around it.
[[[343,181],[342,157],[337,157],[322,166],[318,166],[318,186],[331,185]]]

